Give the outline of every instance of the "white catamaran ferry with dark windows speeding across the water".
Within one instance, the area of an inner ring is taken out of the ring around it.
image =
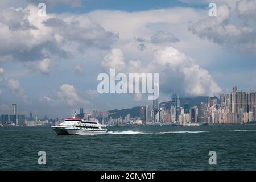
[[[67,118],[60,125],[51,127],[57,135],[92,135],[106,134],[106,125],[101,125],[98,121],[89,121],[81,118]]]

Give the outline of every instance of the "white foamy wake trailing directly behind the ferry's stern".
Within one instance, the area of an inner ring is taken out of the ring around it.
[[[126,135],[138,135],[138,134],[168,134],[168,133],[204,133],[209,131],[162,131],[162,132],[141,132],[141,131],[108,131],[108,134],[126,134]]]

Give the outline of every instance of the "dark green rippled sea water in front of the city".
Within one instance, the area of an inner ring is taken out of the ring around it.
[[[0,170],[255,170],[256,125],[108,127],[58,136],[50,127],[1,127]],[[46,152],[46,165],[38,152]],[[209,151],[217,164],[210,165]]]

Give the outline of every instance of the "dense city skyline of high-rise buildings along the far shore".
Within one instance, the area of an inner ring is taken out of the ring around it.
[[[219,100],[219,101],[218,101]],[[220,97],[208,97],[207,102],[200,101],[196,105],[189,105],[188,102],[181,105],[180,98],[173,93],[169,101],[159,103],[159,97],[152,100],[152,105],[140,106],[139,114],[131,118],[127,114],[124,118],[113,118],[109,111],[98,111],[93,109],[90,112],[84,112],[80,107],[77,118],[90,120],[95,118],[100,123],[108,125],[127,125],[127,123],[212,123],[212,124],[243,124],[247,122],[256,122],[256,93],[238,91],[237,86],[228,94],[220,94]],[[38,125],[38,123],[59,123],[65,117],[49,119],[47,115],[44,119],[39,119],[38,115],[33,117],[31,111],[29,117],[17,112],[17,105],[11,105],[11,114],[1,114],[1,123],[3,125]],[[38,122],[39,121],[39,122]]]

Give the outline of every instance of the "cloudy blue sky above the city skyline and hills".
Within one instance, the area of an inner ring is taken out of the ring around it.
[[[216,16],[209,16],[209,3]],[[38,14],[39,3],[46,15]],[[256,0],[2,0],[0,114],[69,117],[152,104],[100,73],[159,73],[160,101],[256,90]]]

